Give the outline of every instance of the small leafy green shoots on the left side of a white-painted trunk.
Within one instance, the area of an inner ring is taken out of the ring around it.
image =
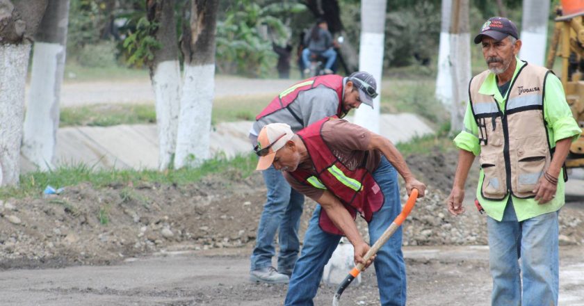
[[[153,35],[158,27],[158,23],[149,22],[146,17],[138,19],[136,31],[129,33],[124,40],[124,49],[129,56],[127,58],[128,65],[141,67],[154,60],[154,51],[163,47]]]

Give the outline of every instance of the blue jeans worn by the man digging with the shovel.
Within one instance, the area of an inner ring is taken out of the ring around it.
[[[375,181],[384,195],[383,207],[373,214],[369,223],[370,244],[375,243],[401,211],[400,191],[396,169],[382,157],[380,166],[373,172]],[[300,258],[296,262],[285,305],[314,305],[318,283],[323,269],[341,236],[328,234],[318,226],[321,206],[317,205],[305,235]],[[405,305],[405,262],[401,250],[401,227],[379,250],[375,261],[378,287],[382,305]],[[347,271],[349,273],[349,271]]]

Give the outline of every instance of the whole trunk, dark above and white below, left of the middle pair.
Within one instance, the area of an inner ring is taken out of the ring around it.
[[[156,125],[159,135],[159,170],[172,166],[177,148],[181,94],[179,48],[175,22],[175,1],[149,1],[148,19],[160,24],[156,40],[163,47],[154,52],[150,78],[156,99]]]

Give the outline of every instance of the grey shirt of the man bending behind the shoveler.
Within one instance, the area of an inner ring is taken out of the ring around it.
[[[343,88],[346,82],[347,78],[344,78]],[[256,145],[257,135],[266,124],[277,122],[286,123],[291,127],[293,132],[297,132],[318,120],[336,115],[336,111],[339,109],[339,103],[339,95],[336,95],[336,91],[324,85],[299,92],[298,97],[289,105],[290,111],[288,108],[282,108],[254,122],[250,130],[251,143],[252,145]],[[296,120],[291,111],[295,115],[298,115],[298,118],[302,122]]]

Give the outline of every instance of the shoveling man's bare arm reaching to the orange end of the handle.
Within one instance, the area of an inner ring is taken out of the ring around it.
[[[394,144],[389,141],[389,139],[372,133],[367,150],[379,150],[382,152],[389,163],[391,163],[391,165],[394,166],[396,170],[398,170],[398,173],[401,175],[401,177],[403,177],[408,195],[412,193],[412,188],[416,188],[419,192],[418,198],[422,198],[424,196],[425,185],[419,182],[414,177],[414,175],[412,175],[412,172],[407,167],[407,163],[405,163],[402,154],[398,151]]]

